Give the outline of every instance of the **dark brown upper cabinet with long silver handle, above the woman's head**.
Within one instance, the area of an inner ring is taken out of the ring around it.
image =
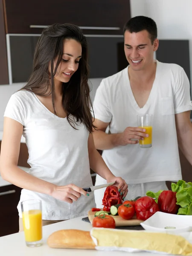
[[[85,34],[122,34],[130,18],[129,0],[4,0],[4,9],[6,33],[36,34],[41,26],[73,23]]]

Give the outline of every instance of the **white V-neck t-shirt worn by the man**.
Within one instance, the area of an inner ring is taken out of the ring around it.
[[[112,134],[128,126],[137,127],[138,114],[153,115],[151,148],[128,144],[103,151],[102,157],[114,175],[128,184],[181,179],[175,114],[192,110],[189,79],[182,67],[157,61],[154,84],[143,108],[134,98],[126,67],[102,80],[93,110],[96,119],[110,123]],[[104,182],[98,175],[96,181]]]

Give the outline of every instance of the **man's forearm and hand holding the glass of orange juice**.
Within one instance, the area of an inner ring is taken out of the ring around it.
[[[105,130],[109,123],[95,119],[93,124],[96,126],[96,129],[93,129],[93,139],[96,149],[99,150],[111,149],[127,144],[137,144],[138,140],[142,140],[143,137],[148,137],[148,134],[144,133],[145,129],[143,128],[127,127],[125,131],[121,133],[106,134]]]

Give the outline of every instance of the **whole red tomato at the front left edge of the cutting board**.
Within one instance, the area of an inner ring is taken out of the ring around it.
[[[110,215],[101,214],[93,219],[92,226],[115,228],[115,220]]]

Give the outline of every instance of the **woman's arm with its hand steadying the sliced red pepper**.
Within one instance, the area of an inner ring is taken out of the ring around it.
[[[88,153],[90,168],[98,175],[103,177],[105,180],[107,180],[107,182],[115,181],[115,185],[118,185],[118,189],[120,189],[120,192],[124,192],[125,197],[128,192],[127,183],[125,183],[125,180],[123,180],[121,177],[114,176],[113,173],[110,171],[105,161],[102,159],[102,156],[95,148],[92,134],[90,134],[88,138]]]

